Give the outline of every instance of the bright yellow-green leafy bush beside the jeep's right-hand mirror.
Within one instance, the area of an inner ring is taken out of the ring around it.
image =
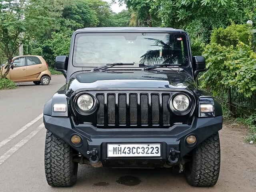
[[[240,42],[236,48],[212,43],[206,45],[203,56],[208,69],[202,76],[203,88],[211,88],[214,94],[223,88],[236,87],[245,97],[256,90],[256,53]]]

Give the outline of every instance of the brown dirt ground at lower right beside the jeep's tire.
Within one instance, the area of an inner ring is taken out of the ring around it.
[[[236,122],[225,122],[220,131],[221,173],[228,189],[256,190],[256,145],[247,144],[248,127]],[[220,184],[220,182],[218,182]]]

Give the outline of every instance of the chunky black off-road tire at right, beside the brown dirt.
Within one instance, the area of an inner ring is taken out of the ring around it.
[[[192,161],[185,165],[185,176],[192,186],[214,186],[220,173],[220,138],[218,132],[192,151]]]

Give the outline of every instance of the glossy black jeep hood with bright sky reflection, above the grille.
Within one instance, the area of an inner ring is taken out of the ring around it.
[[[179,88],[197,90],[197,85],[187,72],[178,71],[103,71],[74,74],[67,90],[81,88]]]

